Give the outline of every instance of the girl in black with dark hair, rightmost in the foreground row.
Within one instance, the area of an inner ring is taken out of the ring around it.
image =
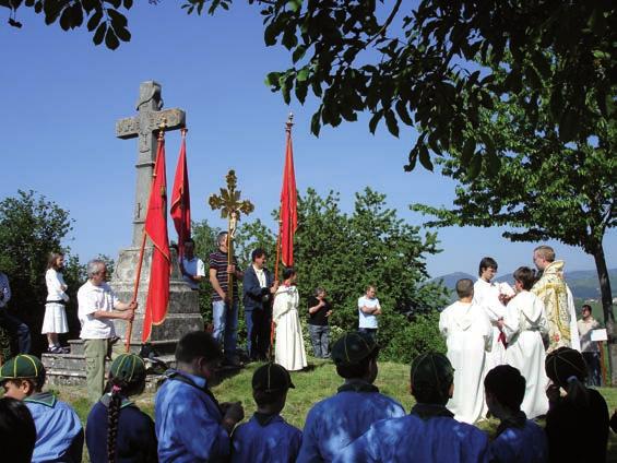
[[[583,356],[559,347],[548,354],[545,365],[553,382],[546,391],[549,461],[605,462],[608,407],[600,392],[584,384],[588,370]]]

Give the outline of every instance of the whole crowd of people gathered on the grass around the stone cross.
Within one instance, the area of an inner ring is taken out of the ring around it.
[[[23,349],[0,367],[0,409],[7,413],[0,425],[14,428],[15,420],[26,422],[26,416],[34,420],[34,453],[23,453],[22,461],[81,461],[84,441],[93,462],[605,461],[608,408],[602,395],[588,388],[600,384],[597,345],[591,340],[598,324],[589,306],[577,323],[563,263],[555,260],[551,248],[534,250],[539,273],[519,268],[513,287],[494,282],[493,258],[482,259],[475,283],[456,283],[459,299],[439,320],[447,355],[425,353],[413,360],[410,385],[416,404],[406,414],[375,385],[382,308],[373,285],[357,301],[357,331],[344,334],[330,349],[333,307],[323,288],[316,288],[302,311],[293,268],[285,269],[280,284],[265,268],[263,249],[251,253],[251,264],[241,272],[236,261],[228,261],[226,233],[218,235],[217,245],[209,263],[213,332],[189,333],[178,343],[176,367],[166,371],[156,393],[154,422],[131,400],[144,390],[144,361],[122,353],[115,331],[116,319],[133,319],[137,304],[116,297],[104,261],[88,262],[88,280],[78,292],[93,404],[85,434],[71,407],[43,391],[45,368],[27,354],[29,331],[2,310],[11,293],[7,275],[0,273],[0,322],[13,329]],[[183,249],[180,270],[197,290],[205,265],[194,256],[192,240]],[[46,273],[43,334],[55,354],[63,352],[58,334],[67,331],[62,265],[63,256],[52,253]],[[232,286],[229,274],[235,276]],[[218,403],[210,390],[221,367],[242,365],[237,349],[240,297],[248,357],[265,363],[254,371],[256,412],[245,424],[239,402]],[[281,412],[295,389],[289,371],[308,365],[302,316],[308,318],[315,357],[331,358],[344,382],[336,394],[310,408],[300,431]],[[115,360],[106,378],[109,357]],[[27,413],[11,399],[25,404]],[[490,416],[500,422],[491,441],[475,427]],[[544,428],[538,418],[545,418]],[[23,434],[13,443],[19,443],[16,452],[24,452],[32,423],[20,426]],[[589,446],[576,444],[582,430],[590,436]]]

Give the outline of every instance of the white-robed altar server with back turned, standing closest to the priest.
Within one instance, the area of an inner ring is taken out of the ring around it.
[[[548,378],[544,367],[546,353],[542,341],[543,336],[548,335],[548,321],[544,302],[530,292],[534,281],[533,270],[527,266],[517,269],[517,296],[508,302],[502,323],[508,341],[506,363],[517,368],[525,378],[525,396],[521,409],[530,419],[548,411],[545,393]]]

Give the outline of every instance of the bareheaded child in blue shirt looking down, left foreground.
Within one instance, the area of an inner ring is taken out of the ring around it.
[[[185,334],[176,347],[176,369],[154,399],[158,460],[174,463],[224,461],[229,435],[245,417],[240,402],[219,404],[209,381],[223,353],[211,334]]]

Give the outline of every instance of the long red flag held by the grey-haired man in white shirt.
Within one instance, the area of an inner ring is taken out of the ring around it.
[[[150,190],[150,202],[144,230],[154,245],[150,286],[145,302],[142,342],[146,342],[153,324],[161,324],[167,316],[169,304],[169,239],[167,237],[167,181],[165,179],[165,139],[158,138],[154,178]]]

